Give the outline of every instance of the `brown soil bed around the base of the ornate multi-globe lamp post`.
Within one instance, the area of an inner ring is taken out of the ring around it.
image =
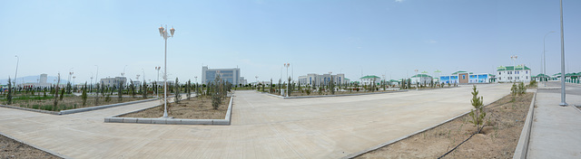
[[[210,97],[184,99],[177,104],[168,104],[168,116],[188,119],[223,119],[226,117],[229,103],[230,97],[222,98],[222,104],[220,107],[214,109],[212,108],[212,98]],[[160,106],[148,108],[136,113],[126,114],[121,117],[157,118],[162,117],[162,115],[163,106]]]

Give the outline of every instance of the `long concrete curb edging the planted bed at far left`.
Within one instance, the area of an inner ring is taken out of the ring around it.
[[[103,109],[103,108],[114,108],[114,107],[119,107],[119,106],[135,104],[135,103],[147,102],[147,101],[152,101],[152,100],[156,100],[156,99],[157,98],[149,98],[149,99],[143,99],[143,100],[128,101],[128,102],[123,102],[123,103],[115,103],[115,104],[110,104],[110,105],[95,106],[95,107],[90,107],[90,108],[75,108],[75,109],[69,109],[69,110],[61,110],[59,112],[34,109],[34,108],[20,108],[20,107],[5,106],[5,105],[0,105],[0,107],[15,108],[15,109],[21,109],[21,110],[33,111],[33,112],[51,114],[51,115],[68,115],[68,114],[81,113],[81,112],[85,112],[85,111],[93,111],[93,110],[98,110],[98,109]]]

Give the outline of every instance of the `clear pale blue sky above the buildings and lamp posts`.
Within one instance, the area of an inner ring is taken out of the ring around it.
[[[495,73],[525,64],[560,72],[557,0],[3,1],[0,79],[49,76],[198,81],[202,65],[240,68],[249,82],[307,73],[401,79],[414,70]],[[581,1],[565,0],[566,68],[581,71]],[[18,58],[15,58],[15,55]],[[97,65],[97,66],[95,66]],[[97,76],[98,68],[98,77]],[[163,69],[162,69],[163,70]],[[162,78],[162,76],[160,76]],[[0,83],[5,84],[5,83]]]

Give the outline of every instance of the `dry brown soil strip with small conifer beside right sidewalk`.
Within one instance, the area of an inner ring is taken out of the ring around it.
[[[485,108],[487,124],[482,132],[444,158],[512,158],[533,95],[517,96],[514,102],[508,95],[488,105]],[[477,132],[477,127],[468,122],[469,118],[468,115],[458,117],[358,158],[438,158]]]

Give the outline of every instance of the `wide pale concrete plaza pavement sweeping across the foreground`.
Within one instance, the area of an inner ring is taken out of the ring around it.
[[[485,104],[510,85],[478,85]],[[0,108],[0,132],[74,158],[340,158],[468,111],[471,86],[335,98],[238,91],[231,126],[103,123],[157,101],[66,116]]]

